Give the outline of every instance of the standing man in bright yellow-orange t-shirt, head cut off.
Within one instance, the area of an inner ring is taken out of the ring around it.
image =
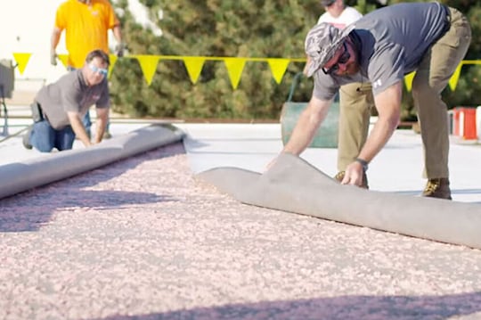
[[[86,56],[93,50],[101,49],[109,53],[108,31],[112,29],[117,40],[116,53],[123,56],[125,45],[122,42],[120,22],[108,0],[67,0],[62,3],[55,16],[55,26],[51,38],[51,63],[57,64],[56,47],[65,29],[65,42],[69,52],[68,69],[83,67]],[[86,113],[84,125],[90,133],[92,122]],[[108,134],[108,128],[106,131]]]

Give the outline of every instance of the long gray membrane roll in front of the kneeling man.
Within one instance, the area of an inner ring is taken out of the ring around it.
[[[0,199],[40,185],[105,166],[111,162],[183,139],[183,131],[169,125],[151,125],[92,147],[49,154],[0,166]]]

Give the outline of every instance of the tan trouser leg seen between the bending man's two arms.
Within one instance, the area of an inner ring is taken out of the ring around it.
[[[339,89],[338,170],[353,163],[366,142],[371,107],[371,83],[352,83]]]

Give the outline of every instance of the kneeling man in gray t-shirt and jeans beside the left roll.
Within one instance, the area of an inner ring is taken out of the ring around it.
[[[32,106],[37,108],[40,116],[29,127],[24,145],[27,148],[33,146],[40,152],[51,152],[53,148],[68,150],[72,148],[76,135],[86,146],[100,143],[109,119],[109,64],[106,53],[94,50],[87,55],[82,69],[69,72],[53,84],[44,86]],[[82,118],[93,104],[97,121],[95,139],[91,142]]]

